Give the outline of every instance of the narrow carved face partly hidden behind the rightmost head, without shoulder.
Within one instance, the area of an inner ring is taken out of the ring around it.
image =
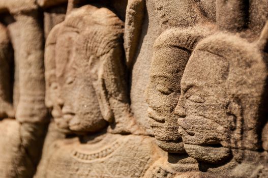
[[[193,37],[178,30],[167,31],[158,38],[146,90],[149,123],[158,145],[169,153],[185,152],[181,135],[177,132],[177,115],[174,113],[181,93],[183,71],[191,55],[184,45],[189,43],[185,39],[191,41]]]

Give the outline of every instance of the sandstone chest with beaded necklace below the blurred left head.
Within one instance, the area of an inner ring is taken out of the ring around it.
[[[77,138],[54,142],[44,177],[142,177],[159,157],[151,137],[93,136],[86,144]]]

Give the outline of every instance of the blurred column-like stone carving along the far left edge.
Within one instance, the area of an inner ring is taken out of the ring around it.
[[[1,177],[32,177],[46,132],[43,33],[37,8],[34,1],[0,2],[6,23],[0,29]]]

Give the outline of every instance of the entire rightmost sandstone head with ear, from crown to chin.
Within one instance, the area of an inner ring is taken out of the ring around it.
[[[175,113],[180,117],[178,132],[186,152],[197,160],[217,163],[230,156],[231,148],[256,149],[254,117],[258,104],[253,103],[259,100],[256,89],[264,80],[248,76],[261,76],[254,69],[258,51],[248,53],[253,46],[237,37],[231,39],[235,43],[226,36],[214,38],[198,45],[192,53]],[[250,136],[243,136],[243,132]]]

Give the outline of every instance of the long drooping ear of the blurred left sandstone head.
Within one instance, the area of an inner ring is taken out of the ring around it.
[[[119,110],[127,110],[122,105],[128,107],[121,45],[114,46],[100,57],[91,56],[89,65],[102,115],[111,123],[122,115]]]

